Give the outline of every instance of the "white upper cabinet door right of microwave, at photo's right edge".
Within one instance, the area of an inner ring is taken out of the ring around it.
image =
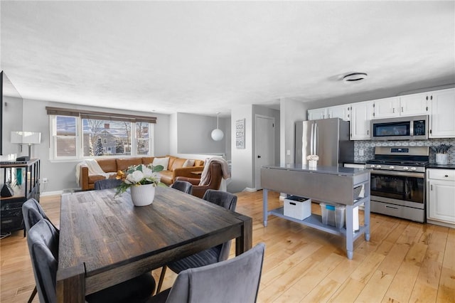
[[[455,88],[432,92],[430,138],[455,137]]]

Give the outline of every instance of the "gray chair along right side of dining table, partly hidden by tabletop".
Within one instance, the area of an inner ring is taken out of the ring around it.
[[[235,206],[237,206],[237,196],[225,191],[215,191],[213,189],[208,189],[205,191],[203,199],[205,201],[209,201],[218,206],[229,209],[230,211],[235,211]],[[158,293],[161,291],[164,275],[166,274],[166,267],[169,267],[173,272],[179,273],[182,270],[187,270],[188,268],[200,267],[224,261],[229,257],[230,245],[231,241],[228,241],[213,248],[209,248],[208,250],[203,250],[201,252],[197,252],[194,255],[184,257],[181,260],[168,263],[161,270],[156,292]]]

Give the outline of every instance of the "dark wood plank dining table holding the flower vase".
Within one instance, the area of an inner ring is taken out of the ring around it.
[[[117,285],[235,239],[235,254],[252,247],[252,218],[173,188],[156,187],[154,202],[133,206],[115,189],[63,194],[58,302]]]

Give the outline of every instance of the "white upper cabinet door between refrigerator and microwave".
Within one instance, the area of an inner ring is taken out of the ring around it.
[[[370,119],[373,118],[373,101],[353,103],[350,106],[350,139],[370,139]]]

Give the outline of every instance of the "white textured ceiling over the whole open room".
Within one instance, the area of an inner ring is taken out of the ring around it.
[[[1,68],[35,100],[223,116],[453,84],[454,54],[455,1],[1,1]]]

